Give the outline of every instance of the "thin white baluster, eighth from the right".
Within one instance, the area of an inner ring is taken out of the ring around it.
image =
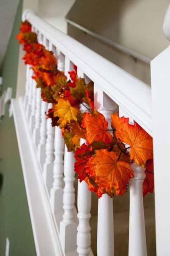
[[[36,113],[35,113],[35,127],[33,130],[33,140],[36,148],[40,141],[40,122],[41,122],[41,88],[36,89]]]

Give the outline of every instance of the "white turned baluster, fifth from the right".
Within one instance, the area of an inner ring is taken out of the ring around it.
[[[63,211],[63,155],[64,155],[64,140],[60,127],[55,127],[55,142],[54,142],[54,166],[52,189],[50,193],[50,201],[52,211],[55,214],[58,228],[62,220]]]

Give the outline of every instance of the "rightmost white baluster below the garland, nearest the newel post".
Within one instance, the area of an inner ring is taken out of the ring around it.
[[[145,217],[143,209],[143,181],[146,177],[142,166],[131,163],[134,178],[129,180],[129,256],[147,256]]]

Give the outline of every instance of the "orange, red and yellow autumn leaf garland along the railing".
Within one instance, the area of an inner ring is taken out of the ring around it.
[[[28,21],[22,22],[16,36],[26,52],[23,59],[33,69],[33,79],[41,87],[42,99],[52,103],[46,113],[52,126],[60,126],[68,151],[75,152],[75,171],[80,182],[85,180],[89,190],[100,198],[127,192],[129,179],[133,178],[130,163],[146,168],[143,196],[154,189],[152,137],[129,118],[111,114],[112,129],[103,114],[94,109],[93,82],[85,83],[77,77],[77,68],[68,72],[70,80],[57,69],[52,51],[39,44],[36,33]],[[81,106],[86,111],[81,111]],[[86,144],[80,147],[80,138]]]

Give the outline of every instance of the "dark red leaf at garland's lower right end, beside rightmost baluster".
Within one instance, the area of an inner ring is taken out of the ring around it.
[[[153,193],[154,190],[154,161],[149,159],[146,162],[146,178],[143,182],[143,197],[146,196],[148,192]]]

